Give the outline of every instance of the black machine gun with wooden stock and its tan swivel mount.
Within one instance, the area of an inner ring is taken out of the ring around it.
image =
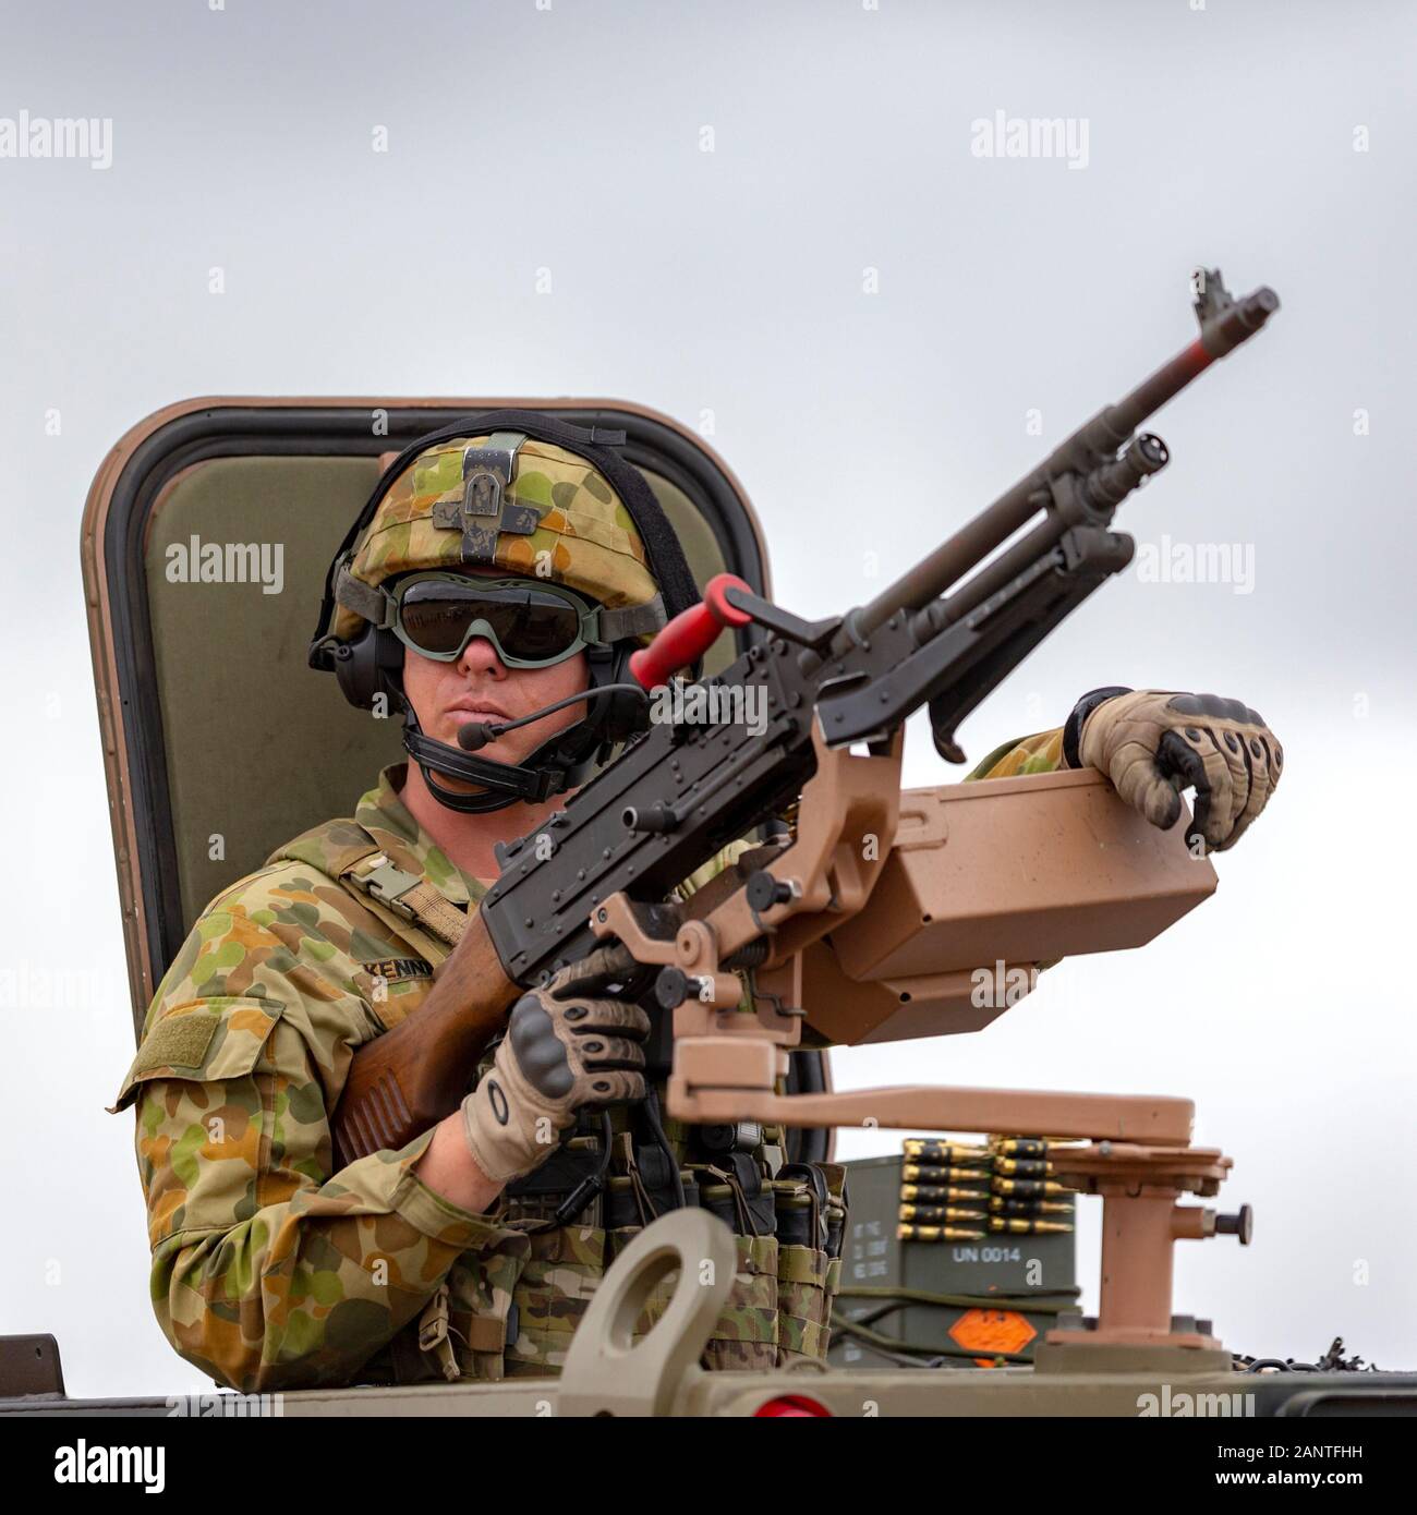
[[[655,974],[653,995],[673,1018],[677,1118],[821,1126],[865,1115],[882,1126],[1184,1145],[1182,1100],[1017,1094],[1000,1110],[1000,1091],[784,1095],[777,1080],[806,1015],[802,954],[862,909],[890,854],[906,717],[929,706],[937,748],[962,761],[959,721],[1131,561],[1132,539],[1109,530],[1112,515],[1168,459],[1141,423],[1278,308],[1268,288],[1234,300],[1218,271],[1203,273],[1190,347],[864,608],[805,621],[740,579],[714,579],[700,604],[635,654],[633,674],[646,691],[662,688],[721,627],[755,623],[762,638],[690,688],[709,712],[732,695],[765,720],[652,724],[536,832],[499,845],[500,877],[439,968],[458,992],[355,1056],[335,1112],[346,1160],[397,1148],[456,1109],[517,995],[600,947],[627,979]],[[791,838],[777,824],[753,867],[687,904],[670,900],[726,844],[793,811]],[[740,1011],[740,974],[753,1014]]]

